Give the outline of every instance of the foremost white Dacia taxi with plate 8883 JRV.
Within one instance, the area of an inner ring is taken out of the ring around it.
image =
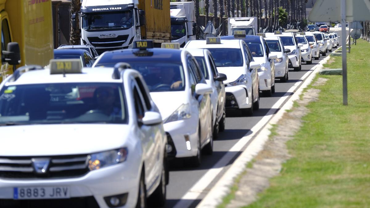
[[[82,66],[51,60],[1,83],[1,201],[131,208],[150,197],[163,206],[166,134],[142,76],[124,63]]]

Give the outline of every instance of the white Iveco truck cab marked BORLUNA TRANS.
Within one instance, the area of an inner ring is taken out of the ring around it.
[[[128,48],[133,41],[140,40],[145,13],[138,9],[138,4],[138,0],[82,1],[78,14],[81,44],[90,44],[101,54],[106,50]],[[76,18],[77,15],[72,14],[73,21]]]

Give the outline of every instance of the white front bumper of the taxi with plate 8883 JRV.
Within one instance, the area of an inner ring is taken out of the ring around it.
[[[139,188],[139,165],[132,166],[129,160],[110,167],[88,172],[83,177],[63,179],[12,179],[0,180],[0,198],[13,199],[13,188],[68,187],[70,200],[94,197],[99,207],[108,207],[104,197],[128,194],[122,208],[135,207]],[[38,199],[36,199],[38,201]],[[45,199],[40,199],[45,200]],[[68,200],[68,199],[67,199]],[[14,200],[15,202],[23,200]]]

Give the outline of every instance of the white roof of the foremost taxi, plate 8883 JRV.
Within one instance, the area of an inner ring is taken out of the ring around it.
[[[114,68],[87,68],[80,74],[50,74],[50,69],[27,71],[16,81],[8,81],[5,85],[45,84],[45,83],[122,83],[121,79],[112,78]]]

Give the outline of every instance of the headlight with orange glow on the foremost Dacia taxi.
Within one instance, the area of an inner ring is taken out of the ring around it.
[[[98,152],[88,155],[89,170],[98,170],[103,167],[115,165],[126,161],[128,150],[127,148],[120,148],[117,150],[110,150]]]

